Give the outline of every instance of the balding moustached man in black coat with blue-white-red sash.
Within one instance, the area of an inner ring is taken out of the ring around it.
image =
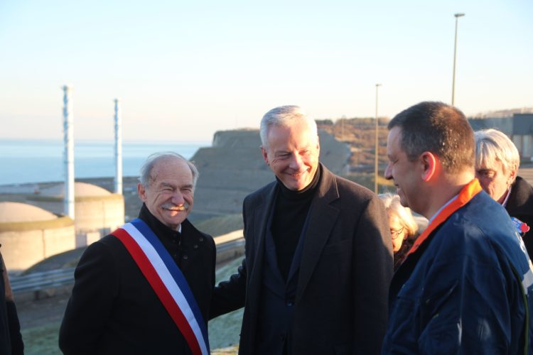
[[[209,354],[215,243],[188,222],[198,170],[151,155],[139,218],[91,244],[59,334],[65,354]]]

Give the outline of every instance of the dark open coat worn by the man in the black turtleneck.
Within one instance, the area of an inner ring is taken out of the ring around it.
[[[309,209],[289,354],[379,354],[387,327],[392,241],[387,212],[365,187],[323,175]],[[244,200],[246,258],[213,294],[210,317],[244,306],[239,354],[254,354],[264,238],[276,183]]]

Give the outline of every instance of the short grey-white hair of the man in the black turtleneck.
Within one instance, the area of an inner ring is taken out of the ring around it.
[[[261,126],[259,128],[259,135],[261,136],[261,144],[263,148],[269,148],[267,135],[271,126],[291,126],[292,124],[301,121],[307,122],[311,132],[313,132],[318,138],[316,121],[308,116],[300,107],[294,105],[280,106],[266,112],[261,120]]]

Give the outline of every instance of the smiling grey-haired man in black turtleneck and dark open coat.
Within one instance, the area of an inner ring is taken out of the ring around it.
[[[244,199],[246,258],[211,317],[244,306],[239,354],[379,353],[392,277],[382,202],[319,163],[299,107],[271,109],[260,136],[276,181]]]

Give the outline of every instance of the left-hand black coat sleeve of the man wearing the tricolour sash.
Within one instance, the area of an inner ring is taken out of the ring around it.
[[[64,354],[95,354],[117,295],[114,259],[102,242],[91,244],[80,258],[59,332],[59,347]]]

